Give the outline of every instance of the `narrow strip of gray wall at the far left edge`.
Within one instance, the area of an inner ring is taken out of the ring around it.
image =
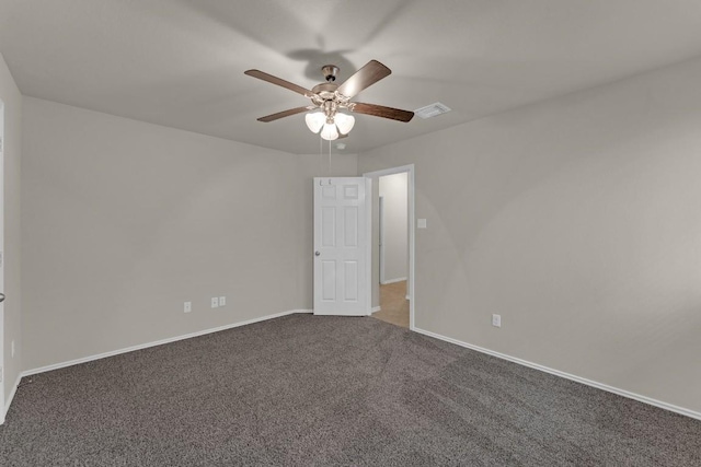
[[[22,141],[22,95],[0,55],[0,100],[4,103],[4,396],[10,397],[21,371],[21,288],[20,288],[20,161]],[[15,341],[12,358],[10,346]],[[2,417],[0,417],[2,418]]]

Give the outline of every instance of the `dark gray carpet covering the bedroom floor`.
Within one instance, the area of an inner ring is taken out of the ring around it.
[[[33,377],[2,466],[701,465],[701,422],[374,318],[292,315]]]

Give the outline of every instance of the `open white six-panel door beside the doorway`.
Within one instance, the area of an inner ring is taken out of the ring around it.
[[[314,178],[314,314],[370,314],[370,179]]]

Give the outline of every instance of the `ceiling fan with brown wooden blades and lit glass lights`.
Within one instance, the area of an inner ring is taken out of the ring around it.
[[[289,117],[290,115],[317,110],[307,114],[307,126],[314,133],[321,131],[323,139],[335,140],[347,136],[355,124],[355,118],[352,115],[338,112],[340,109],[404,122],[411,120],[414,116],[414,113],[409,110],[376,104],[364,104],[361,102],[350,102],[360,91],[387,78],[392,72],[392,70],[377,60],[368,61],[355,74],[340,85],[334,83],[336,74],[338,73],[338,67],[335,65],[325,65],[321,68],[321,72],[326,82],[317,84],[310,91],[261,70],[245,71],[244,73],[249,77],[286,87],[311,100],[311,105],[266,115],[265,117],[258,118],[258,121],[269,122],[279,118]]]

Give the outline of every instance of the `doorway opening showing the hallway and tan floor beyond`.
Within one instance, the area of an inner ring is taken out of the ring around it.
[[[372,179],[371,306],[376,318],[414,329],[414,165],[363,174]]]

